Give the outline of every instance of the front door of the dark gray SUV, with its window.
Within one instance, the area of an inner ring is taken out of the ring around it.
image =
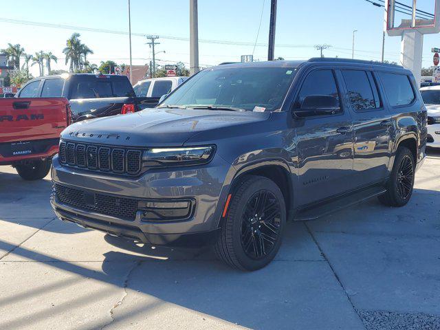
[[[353,175],[351,116],[342,105],[333,69],[310,72],[300,87],[294,108],[300,107],[306,96],[333,96],[341,109],[331,115],[301,118],[296,124],[298,206],[347,192]]]

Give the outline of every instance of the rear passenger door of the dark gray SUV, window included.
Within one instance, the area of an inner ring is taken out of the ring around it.
[[[353,117],[355,188],[386,178],[393,122],[370,69],[342,69]]]

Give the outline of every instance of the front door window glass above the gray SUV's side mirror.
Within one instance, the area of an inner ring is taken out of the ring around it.
[[[335,77],[331,70],[316,70],[311,72],[304,80],[301,86],[296,107],[300,107],[306,96],[310,95],[328,95],[338,100],[338,87],[336,87]]]

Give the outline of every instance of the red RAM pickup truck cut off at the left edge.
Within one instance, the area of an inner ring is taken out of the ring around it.
[[[65,98],[1,99],[0,165],[14,166],[25,180],[42,179],[70,121]]]

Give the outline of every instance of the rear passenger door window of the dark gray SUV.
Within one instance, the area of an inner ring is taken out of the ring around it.
[[[342,76],[344,76],[351,106],[354,110],[375,109],[380,107],[377,87],[371,76],[371,72],[342,70]]]

